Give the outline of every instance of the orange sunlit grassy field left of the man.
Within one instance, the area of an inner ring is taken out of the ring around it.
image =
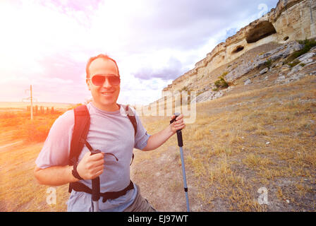
[[[59,114],[38,114],[30,121],[29,112],[1,112],[1,211],[66,210],[68,186],[56,187],[56,204],[50,206],[46,202],[49,186],[37,184],[33,173],[42,142]]]

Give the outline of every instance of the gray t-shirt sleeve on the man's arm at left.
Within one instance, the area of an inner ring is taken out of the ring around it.
[[[65,112],[54,121],[35,164],[41,169],[56,165],[68,165],[73,136],[73,110]]]

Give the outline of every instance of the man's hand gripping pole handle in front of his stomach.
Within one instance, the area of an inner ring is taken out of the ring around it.
[[[104,153],[91,155],[90,152],[85,153],[83,159],[77,166],[77,172],[83,179],[95,179],[102,174],[104,169]]]

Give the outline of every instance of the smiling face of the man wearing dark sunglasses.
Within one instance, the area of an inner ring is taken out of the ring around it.
[[[109,59],[95,59],[90,64],[89,71],[89,78],[95,75],[119,76],[116,64]],[[93,103],[96,107],[106,111],[114,111],[117,109],[116,100],[119,97],[120,85],[113,85],[109,83],[109,79],[106,78],[102,85],[95,85],[91,79],[87,79],[87,86],[91,91]]]

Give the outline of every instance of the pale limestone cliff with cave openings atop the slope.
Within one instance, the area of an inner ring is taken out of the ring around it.
[[[245,56],[245,53],[251,52],[250,50],[252,49],[257,49],[257,54],[262,54],[273,51],[276,47],[280,47],[284,44],[289,44],[293,47],[285,46],[284,51],[281,52],[289,54],[289,49],[291,49],[291,51],[298,49],[298,44],[292,41],[316,37],[315,20],[316,1],[280,0],[276,8],[272,8],[272,10],[265,16],[262,16],[262,18],[241,28],[236,35],[227,38],[226,42],[218,44],[212,52],[207,54],[205,59],[195,64],[194,69],[176,78],[172,84],[162,90],[162,96],[164,97],[166,93],[170,93],[170,91],[174,92],[183,89],[195,90],[197,92],[200,90],[209,90],[209,88],[206,88],[207,84],[214,83],[218,76],[221,76],[223,71],[226,73],[226,79],[229,82],[233,82],[238,76],[236,76],[236,71],[231,72],[233,71],[232,62],[241,56]],[[258,47],[263,46],[266,48],[258,50],[260,49]],[[274,50],[273,54],[280,55],[281,50],[282,49]],[[265,57],[261,58],[265,60]],[[253,65],[257,66],[255,64]],[[253,69],[251,65],[239,66],[239,70],[242,70],[241,67],[244,67],[246,71]],[[242,73],[242,75],[243,74],[245,73]],[[196,81],[199,81],[200,84],[197,84]]]

